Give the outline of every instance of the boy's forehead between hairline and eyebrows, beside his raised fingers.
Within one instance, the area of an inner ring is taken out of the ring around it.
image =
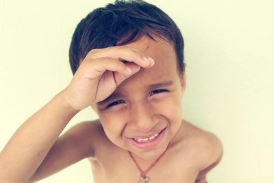
[[[153,58],[155,65],[149,69],[140,69],[138,73],[125,80],[116,90],[130,90],[138,86],[143,87],[165,81],[175,82],[175,80],[179,79],[177,74],[177,57],[173,45],[158,36],[153,36],[153,38],[154,40],[147,36],[142,36],[127,46],[145,52]]]

